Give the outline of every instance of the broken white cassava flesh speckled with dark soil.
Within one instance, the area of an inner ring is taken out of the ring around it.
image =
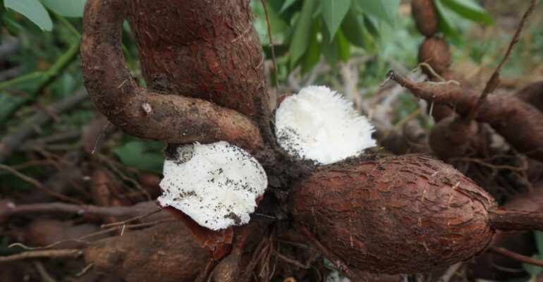
[[[162,207],[171,206],[212,230],[248,223],[268,185],[264,168],[228,142],[184,145],[164,161]]]

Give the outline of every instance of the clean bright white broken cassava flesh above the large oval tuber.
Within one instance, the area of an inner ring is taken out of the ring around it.
[[[305,87],[281,102],[275,116],[279,145],[319,164],[358,156],[374,147],[373,125],[353,104],[324,86]]]

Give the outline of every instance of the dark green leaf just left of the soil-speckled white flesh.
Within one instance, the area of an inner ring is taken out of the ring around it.
[[[159,142],[145,142],[134,140],[126,142],[125,145],[115,147],[113,152],[121,162],[140,171],[161,172],[164,157],[160,152],[163,147]]]

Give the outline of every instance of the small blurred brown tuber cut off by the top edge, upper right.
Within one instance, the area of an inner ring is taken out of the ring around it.
[[[417,30],[419,30],[420,33],[426,37],[432,37],[432,35],[437,32],[439,17],[436,8],[434,7],[434,1],[412,0],[411,13],[413,13],[413,18],[415,18],[415,23],[417,24]]]

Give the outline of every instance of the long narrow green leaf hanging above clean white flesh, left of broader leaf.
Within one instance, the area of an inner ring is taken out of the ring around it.
[[[317,0],[303,1],[302,11],[296,21],[294,34],[291,41],[291,46],[288,51],[291,53],[291,68],[293,68],[298,60],[303,56],[309,44],[310,33],[307,32],[311,28],[312,13],[316,6]]]

